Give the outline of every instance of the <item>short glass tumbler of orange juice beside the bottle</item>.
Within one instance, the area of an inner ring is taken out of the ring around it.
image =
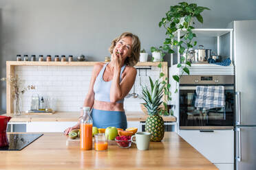
[[[107,138],[108,138],[108,136],[105,135],[105,133],[95,134],[94,135],[94,149],[96,151],[107,150]]]

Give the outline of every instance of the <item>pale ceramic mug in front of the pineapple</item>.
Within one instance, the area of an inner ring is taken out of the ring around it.
[[[151,133],[149,132],[137,132],[131,136],[131,142],[136,143],[137,149],[148,150]],[[136,137],[136,141],[133,138]]]

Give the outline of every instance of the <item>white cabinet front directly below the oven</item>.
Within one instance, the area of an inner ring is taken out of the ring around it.
[[[179,135],[213,163],[234,163],[234,131],[180,130]]]

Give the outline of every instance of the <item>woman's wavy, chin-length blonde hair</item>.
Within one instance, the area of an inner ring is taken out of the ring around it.
[[[109,47],[109,52],[112,54],[113,49],[116,46],[116,42],[118,42],[120,39],[130,36],[132,39],[132,44],[131,44],[131,56],[127,57],[125,59],[125,64],[127,66],[135,66],[140,58],[140,39],[138,36],[130,33],[130,32],[124,32],[111,42],[111,46]]]

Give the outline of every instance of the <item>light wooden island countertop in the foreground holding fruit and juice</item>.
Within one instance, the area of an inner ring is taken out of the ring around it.
[[[150,143],[147,151],[136,145],[81,151],[67,147],[66,138],[48,133],[21,151],[0,151],[0,169],[217,169],[175,132],[165,132],[163,141]]]

